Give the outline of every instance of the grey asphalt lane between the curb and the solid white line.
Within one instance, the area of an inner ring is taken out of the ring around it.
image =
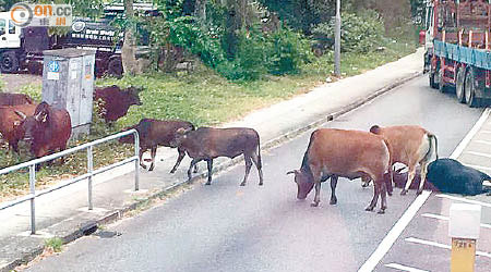
[[[419,77],[325,126],[367,131],[373,124],[420,124],[438,135],[439,154],[446,157],[481,111],[430,89],[427,77]],[[402,197],[396,190],[383,215],[363,210],[373,193],[359,180],[339,180],[336,206],[328,205],[328,184],[319,207],[310,207],[313,194],[297,200],[292,177],[285,173],[300,166],[309,136],[262,153],[262,187],[254,169],[248,186],[240,187],[244,168],[238,165],[215,176],[211,186],[199,184],[107,226],[120,235],[81,238],[28,271],[357,271],[415,191]]]

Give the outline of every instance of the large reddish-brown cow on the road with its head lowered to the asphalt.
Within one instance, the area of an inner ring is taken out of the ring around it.
[[[321,201],[321,183],[330,177],[331,205],[337,203],[338,177],[372,178],[375,181],[373,198],[366,210],[372,211],[381,196],[379,213],[384,213],[387,207],[384,173],[391,173],[391,164],[390,147],[384,138],[360,131],[320,128],[310,136],[300,170],[287,174],[295,174],[298,199],[306,199],[315,185],[313,207]]]

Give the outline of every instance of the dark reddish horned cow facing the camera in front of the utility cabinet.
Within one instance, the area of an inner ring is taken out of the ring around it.
[[[72,133],[70,114],[64,109],[55,109],[47,102],[36,107],[33,116],[25,116],[21,112],[23,121],[15,127],[16,133],[31,144],[31,152],[35,158],[50,154],[59,149],[67,149],[67,143]],[[37,165],[38,166],[38,165]]]

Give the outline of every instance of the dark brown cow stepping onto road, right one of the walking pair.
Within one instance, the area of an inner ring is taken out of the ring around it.
[[[212,183],[213,159],[218,157],[236,158],[239,154],[243,154],[246,175],[240,185],[246,185],[252,162],[258,168],[260,177],[259,185],[263,185],[260,136],[252,128],[200,127],[196,131],[179,128],[176,133],[176,140],[171,143],[171,146],[185,151],[192,158],[188,170],[189,180],[191,180],[191,169],[197,162],[204,160],[208,166],[208,181],[206,185],[209,185]]]

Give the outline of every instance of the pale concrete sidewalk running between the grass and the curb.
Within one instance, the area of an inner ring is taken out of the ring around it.
[[[266,149],[418,76],[422,71],[422,55],[423,50],[419,49],[396,62],[325,84],[223,126],[255,128],[261,135],[262,149]],[[175,174],[169,174],[176,159],[175,149],[159,148],[155,170],[147,172],[140,169],[141,189],[136,193],[133,191],[133,164],[96,176],[93,211],[87,210],[85,182],[36,199],[36,235],[29,235],[29,202],[0,211],[0,271],[9,271],[40,254],[48,237],[73,240],[83,235],[81,228],[121,218],[135,209],[139,202],[179,186],[185,181],[189,159],[182,161]],[[217,160],[214,170],[219,171],[230,164],[228,159]],[[203,173],[204,164],[200,166]]]

